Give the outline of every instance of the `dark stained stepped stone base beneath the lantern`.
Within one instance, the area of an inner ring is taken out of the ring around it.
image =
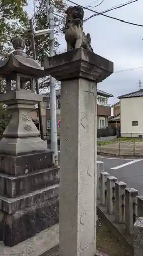
[[[0,161],[0,240],[11,247],[59,222],[59,167],[51,151]]]

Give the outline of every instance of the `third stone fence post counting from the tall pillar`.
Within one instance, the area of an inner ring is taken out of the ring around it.
[[[107,177],[107,212],[109,214],[115,211],[115,182],[117,182],[116,177]]]

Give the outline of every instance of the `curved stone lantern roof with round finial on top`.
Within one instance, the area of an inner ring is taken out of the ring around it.
[[[46,75],[39,63],[23,51],[25,48],[23,38],[15,37],[12,40],[12,45],[15,51],[8,58],[0,61],[0,77],[15,80],[17,73],[35,78],[41,78]]]

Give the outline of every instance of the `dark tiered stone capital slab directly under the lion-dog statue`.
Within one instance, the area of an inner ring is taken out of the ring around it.
[[[59,81],[84,78],[102,82],[113,73],[113,62],[83,48],[47,57],[44,66]]]

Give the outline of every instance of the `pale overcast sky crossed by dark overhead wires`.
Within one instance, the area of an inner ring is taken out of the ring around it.
[[[74,2],[88,6],[94,0],[75,0]],[[93,6],[100,2],[101,0],[96,1]],[[125,2],[127,0],[104,0],[100,6],[91,9],[101,12]],[[30,15],[32,15],[32,9],[32,0],[30,0],[26,8]],[[143,25],[142,10],[143,1],[138,0],[126,7],[110,11],[107,15]],[[86,10],[84,17],[92,14],[94,13]],[[109,104],[116,103],[117,97],[122,94],[138,90],[139,79],[143,82],[143,27],[125,24],[99,15],[84,23],[84,31],[91,35],[94,52],[114,62],[115,73],[98,84],[100,90],[114,95],[110,98]],[[58,38],[61,44],[60,51],[62,51],[66,49],[66,42],[63,35]],[[140,69],[116,73],[140,66],[142,66]]]

